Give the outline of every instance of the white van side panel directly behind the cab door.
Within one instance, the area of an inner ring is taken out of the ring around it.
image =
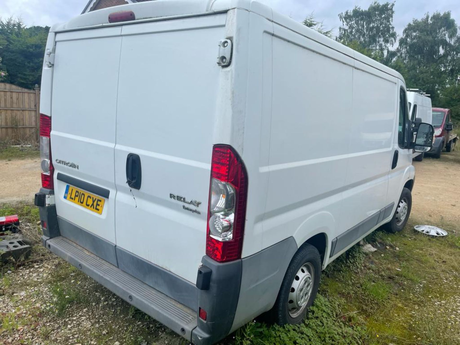
[[[343,194],[346,216],[342,231],[372,219],[387,206],[388,172],[396,126],[396,78],[358,62],[357,67],[353,71],[353,115],[349,119],[351,127],[347,129],[350,156]]]

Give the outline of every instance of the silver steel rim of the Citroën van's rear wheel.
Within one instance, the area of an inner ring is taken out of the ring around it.
[[[289,315],[293,318],[305,311],[313,292],[315,269],[309,262],[302,265],[294,276],[288,296]]]

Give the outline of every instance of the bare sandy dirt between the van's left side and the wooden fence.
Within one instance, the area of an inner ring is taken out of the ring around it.
[[[33,201],[40,187],[39,158],[0,160],[0,203]]]

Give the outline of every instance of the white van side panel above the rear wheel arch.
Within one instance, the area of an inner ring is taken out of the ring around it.
[[[352,110],[353,59],[280,26],[274,31],[264,248],[340,229]]]

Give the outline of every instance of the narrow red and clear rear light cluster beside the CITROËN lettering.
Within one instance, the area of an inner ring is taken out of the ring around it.
[[[40,165],[41,186],[54,189],[54,167],[51,161],[51,117],[40,114]]]

